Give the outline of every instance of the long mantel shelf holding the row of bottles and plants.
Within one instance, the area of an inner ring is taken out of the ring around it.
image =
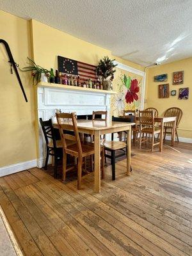
[[[86,92],[95,92],[95,93],[105,93],[105,94],[116,94],[114,91],[107,91],[107,90],[98,90],[92,88],[84,88],[79,86],[70,86],[65,84],[52,84],[52,83],[45,83],[40,82],[38,83],[39,87],[49,87],[49,88],[60,88],[65,90],[76,90],[76,91],[86,91]]]

